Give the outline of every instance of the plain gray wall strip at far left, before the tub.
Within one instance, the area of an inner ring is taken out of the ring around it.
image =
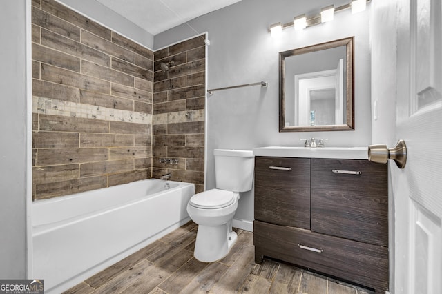
[[[26,7],[28,6],[28,7]],[[0,67],[0,278],[26,277],[26,205],[30,202],[30,163],[27,112],[26,14],[30,1],[1,1],[0,36],[3,40]],[[28,14],[30,15],[30,14]],[[30,19],[29,19],[30,20]],[[30,59],[29,59],[30,60]],[[30,81],[30,79],[29,79]],[[31,105],[31,104],[30,104]],[[29,148],[28,148],[29,146]],[[28,197],[27,197],[28,196]]]

